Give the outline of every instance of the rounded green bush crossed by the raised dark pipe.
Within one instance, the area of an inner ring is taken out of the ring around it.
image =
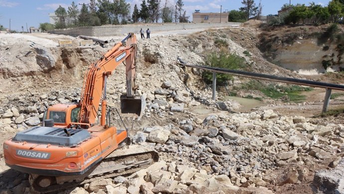
[[[209,54],[206,58],[205,64],[210,67],[235,70],[245,67],[245,59],[236,54],[232,54],[225,49],[221,49],[220,52],[213,52]],[[212,83],[212,72],[204,71],[202,78],[206,83]],[[217,73],[216,79],[217,84],[225,85],[227,81],[233,80],[233,77],[229,74]]]

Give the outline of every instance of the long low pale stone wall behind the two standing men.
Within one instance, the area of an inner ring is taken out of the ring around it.
[[[171,31],[182,29],[199,29],[199,28],[214,28],[214,27],[230,27],[231,25],[238,25],[238,22],[226,23],[168,23],[168,24],[138,24],[138,25],[106,25],[95,27],[78,27],[62,30],[49,30],[52,34],[65,34],[70,36],[114,36],[123,35],[129,32],[139,33],[140,29],[150,28],[151,32]]]

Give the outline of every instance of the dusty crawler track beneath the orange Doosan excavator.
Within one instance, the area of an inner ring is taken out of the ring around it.
[[[31,174],[29,183],[36,192],[51,193],[99,179],[131,174],[147,168],[158,160],[158,153],[152,149],[138,145],[125,146],[113,151],[83,175],[49,177]]]

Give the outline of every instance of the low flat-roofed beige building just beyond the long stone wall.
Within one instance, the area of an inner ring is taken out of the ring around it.
[[[222,23],[228,22],[228,12],[200,13],[198,10],[192,13],[193,23]]]

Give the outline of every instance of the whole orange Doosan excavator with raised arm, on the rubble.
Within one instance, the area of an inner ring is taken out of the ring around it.
[[[18,132],[4,142],[6,165],[28,173],[33,189],[48,193],[133,173],[158,161],[158,153],[151,149],[127,146],[127,128],[111,126],[113,109],[106,112],[107,78],[122,62],[127,81],[127,94],[120,97],[122,113],[144,111],[144,97],[135,97],[136,54],[136,36],[130,33],[89,66],[79,102],[48,107],[43,126]]]

